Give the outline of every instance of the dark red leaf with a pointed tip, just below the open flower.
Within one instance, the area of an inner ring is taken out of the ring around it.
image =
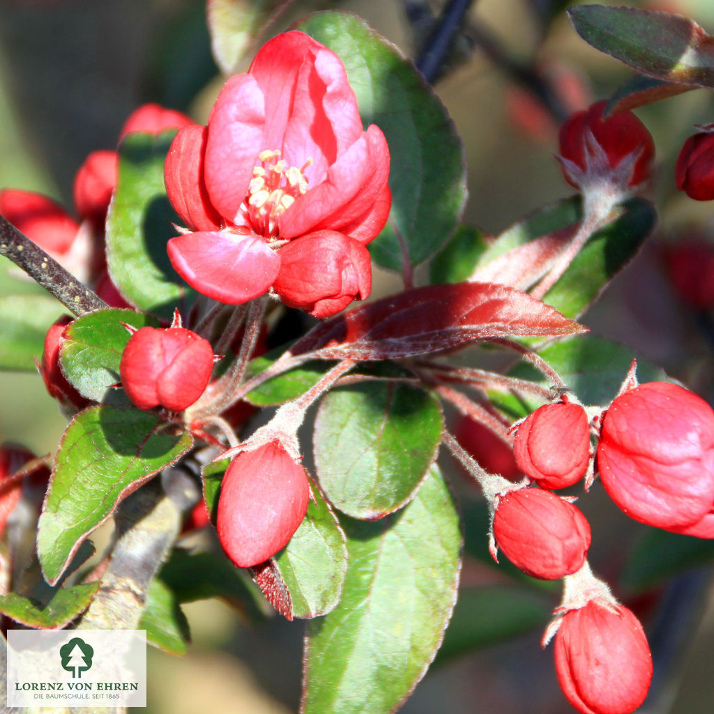
[[[585,331],[555,308],[505,285],[429,285],[325,321],[291,353],[316,353],[321,359],[394,359],[498,337],[558,337]]]

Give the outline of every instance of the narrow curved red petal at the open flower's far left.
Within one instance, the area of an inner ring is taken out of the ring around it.
[[[221,216],[211,205],[203,185],[205,126],[185,126],[174,136],[164,164],[166,193],[183,223],[198,231],[221,228]]]

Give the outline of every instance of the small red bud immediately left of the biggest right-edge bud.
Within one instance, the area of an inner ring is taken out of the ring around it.
[[[518,468],[542,488],[577,483],[590,461],[585,410],[565,402],[539,407],[518,427],[513,454]]]

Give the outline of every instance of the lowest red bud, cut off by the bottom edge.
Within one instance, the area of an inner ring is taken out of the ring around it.
[[[642,625],[622,605],[590,600],[563,615],[555,635],[563,694],[583,714],[628,714],[643,703],[652,655]]]

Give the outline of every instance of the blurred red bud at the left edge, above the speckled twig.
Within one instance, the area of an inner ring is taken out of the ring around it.
[[[53,256],[67,253],[79,231],[77,222],[59,203],[32,191],[0,191],[0,215]]]

